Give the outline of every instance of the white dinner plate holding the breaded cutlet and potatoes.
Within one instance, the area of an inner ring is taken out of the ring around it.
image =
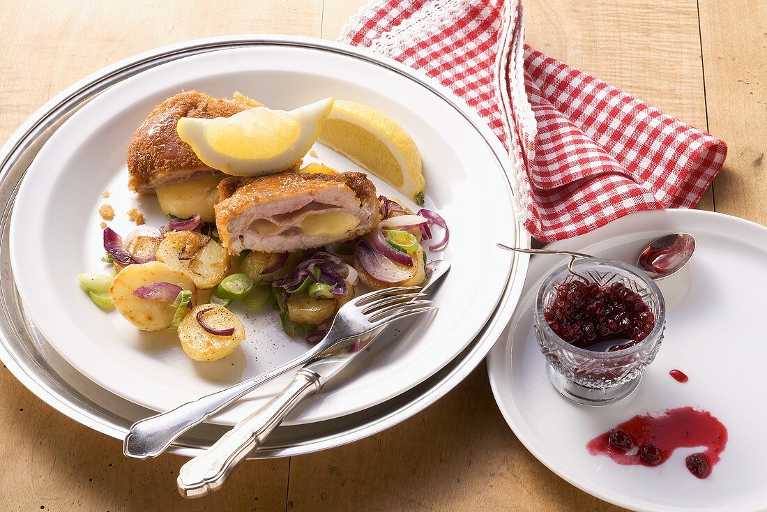
[[[493,245],[515,236],[498,140],[476,117],[467,118],[403,72],[332,51],[275,45],[211,51],[129,78],[74,114],[38,154],[12,216],[12,265],[35,322],[71,365],[117,395],[161,411],[257,375],[307,348],[282,334],[275,315],[250,315],[241,350],[220,362],[196,363],[173,336],[139,332],[116,312],[99,312],[74,280],[84,270],[104,268],[96,213],[101,203],[114,206],[117,216],[110,225],[123,236],[135,228],[125,215],[133,206],[145,213],[147,226],[166,223],[156,200],[127,191],[125,154],[133,130],[156,104],[193,88],[215,96],[241,91],[274,108],[334,96],[383,111],[416,140],[427,204],[451,228],[451,243],[441,256],[453,269],[436,296],[437,315],[398,326],[400,332],[390,329],[390,341],[381,339],[361,355],[288,424],[335,418],[397,396],[471,342],[495,309],[511,270],[508,254]],[[316,149],[318,160],[358,170],[331,150]],[[375,181],[380,193],[392,192]],[[111,193],[107,200],[101,197],[104,190]],[[288,378],[265,385],[214,422],[239,421]]]

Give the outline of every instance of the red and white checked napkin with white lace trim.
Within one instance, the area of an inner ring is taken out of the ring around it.
[[[512,157],[515,210],[549,242],[640,210],[691,208],[726,144],[524,44],[510,0],[372,0],[338,41],[435,78]]]

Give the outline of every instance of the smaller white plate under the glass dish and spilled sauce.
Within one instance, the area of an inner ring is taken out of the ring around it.
[[[633,263],[645,243],[672,231],[697,240],[690,292],[668,310],[663,345],[634,395],[589,408],[568,401],[548,382],[532,333],[532,309],[542,278],[563,260],[535,256],[508,338],[488,358],[495,400],[538,460],[603,500],[634,510],[765,510],[767,229],[718,213],[650,211],[548,248]],[[673,368],[690,381],[673,380]],[[721,461],[705,480],[686,470],[684,459],[694,448],[678,449],[652,468],[621,466],[586,450],[591,438],[634,415],[685,405],[710,411],[729,430]]]

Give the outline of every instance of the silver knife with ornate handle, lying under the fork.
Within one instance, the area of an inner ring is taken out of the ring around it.
[[[423,292],[430,289],[450,269],[446,261],[436,261],[427,266]],[[202,497],[221,487],[237,465],[245,460],[266,440],[304,398],[314,395],[331,378],[334,378],[354,358],[378,337],[380,331],[372,332],[360,341],[360,349],[354,353],[334,353],[304,365],[295,377],[275,398],[252,415],[249,415],[222,436],[203,454],[187,461],[181,467],[176,484],[179,493],[186,498]]]

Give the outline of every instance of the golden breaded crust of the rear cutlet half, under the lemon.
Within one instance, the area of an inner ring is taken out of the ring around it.
[[[176,131],[181,117],[230,117],[262,104],[239,92],[229,98],[187,91],[169,97],[146,117],[128,147],[128,187],[137,193],[154,193],[164,187],[206,176],[224,176],[199,160]]]

